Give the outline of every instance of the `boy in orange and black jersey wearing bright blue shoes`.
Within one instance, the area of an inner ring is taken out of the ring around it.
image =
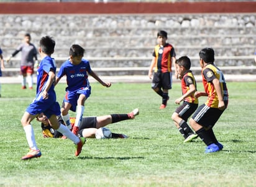
[[[217,141],[213,127],[227,108],[229,95],[224,75],[214,64],[214,50],[203,48],[199,52],[199,58],[202,67],[204,92],[196,92],[194,95],[195,97],[207,96],[208,98],[195,111],[190,119],[190,125],[206,144],[205,152],[217,152],[222,150],[223,146]]]

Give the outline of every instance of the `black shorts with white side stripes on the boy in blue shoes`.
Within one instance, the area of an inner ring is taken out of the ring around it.
[[[203,104],[194,112],[192,119],[205,128],[212,128],[221,117],[223,111]]]

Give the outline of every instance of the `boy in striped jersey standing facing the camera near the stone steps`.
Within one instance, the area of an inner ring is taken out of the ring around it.
[[[152,71],[155,67],[153,74],[152,89],[162,97],[162,105],[160,109],[167,106],[169,99],[168,90],[171,89],[172,84],[172,63],[175,63],[175,50],[170,43],[167,43],[167,32],[160,30],[157,33],[158,45],[155,46],[153,51],[153,59],[149,67],[149,78],[152,79]],[[177,78],[177,71],[175,67],[175,77]]]

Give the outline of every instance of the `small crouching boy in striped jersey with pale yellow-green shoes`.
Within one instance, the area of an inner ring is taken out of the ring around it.
[[[181,79],[182,90],[182,96],[177,98],[175,103],[180,105],[183,101],[183,104],[176,108],[171,119],[185,138],[184,142],[190,142],[194,138],[198,137],[198,134],[195,134],[187,123],[188,118],[194,113],[196,108],[198,108],[198,98],[194,97],[194,92],[196,92],[196,79],[194,79],[194,75],[190,70],[190,58],[187,56],[181,56],[176,60],[175,64],[178,75]]]

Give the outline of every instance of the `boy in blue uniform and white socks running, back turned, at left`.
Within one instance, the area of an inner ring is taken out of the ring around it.
[[[29,153],[22,157],[22,160],[41,156],[41,152],[35,142],[34,130],[30,124],[40,113],[44,113],[47,116],[53,129],[64,134],[76,144],[76,156],[80,154],[83,144],[85,144],[85,138],[75,136],[65,125],[58,123],[57,120],[57,115],[60,115],[60,105],[56,102],[54,90],[56,64],[54,59],[51,58],[54,47],[55,41],[52,38],[46,36],[40,39],[39,53],[42,61],[37,70],[37,95],[34,101],[27,107],[21,119],[30,149]]]

